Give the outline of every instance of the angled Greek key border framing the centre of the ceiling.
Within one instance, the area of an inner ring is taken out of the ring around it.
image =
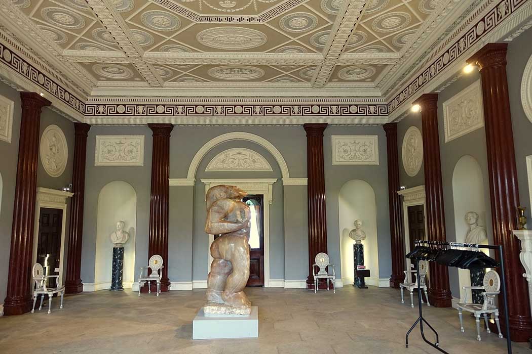
[[[176,4],[171,0],[152,0],[152,2],[159,4],[163,7],[166,7],[168,8],[168,10],[171,10],[197,23],[263,23],[273,18],[276,18],[281,13],[289,11],[290,9],[302,3],[305,3],[307,1],[309,0],[287,0],[277,5],[276,7],[272,7],[269,10],[261,14],[258,14],[258,15],[248,15],[248,16],[206,15],[204,16],[204,15],[200,15],[190,10],[188,7],[184,7],[179,4]]]

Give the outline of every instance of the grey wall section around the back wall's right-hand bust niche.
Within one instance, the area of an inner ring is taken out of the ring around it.
[[[377,135],[379,141],[378,166],[332,166],[332,135]],[[388,165],[386,135],[381,126],[329,126],[323,136],[323,160],[325,162],[325,193],[327,204],[327,251],[341,279],[340,235],[338,222],[338,194],[342,186],[352,179],[362,179],[375,191],[377,204],[377,243],[379,274],[372,277],[389,278],[392,273],[390,222],[388,212]],[[353,220],[354,221],[354,220]],[[375,237],[375,235],[368,235]]]

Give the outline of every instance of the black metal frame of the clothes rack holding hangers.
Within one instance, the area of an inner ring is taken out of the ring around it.
[[[503,307],[504,307],[504,323],[506,325],[506,347],[508,348],[508,354],[512,354],[512,341],[510,340],[510,323],[508,321],[508,298],[506,296],[506,279],[504,275],[504,257],[502,254],[502,246],[492,246],[492,245],[474,245],[474,244],[464,244],[464,243],[458,243],[458,242],[444,242],[444,241],[425,241],[425,240],[415,240],[415,245],[429,245],[429,246],[451,246],[451,247],[469,247],[469,248],[488,248],[488,249],[495,249],[498,250],[499,254],[499,260],[500,260],[500,267],[501,267],[501,287],[502,287],[502,298],[503,298]],[[419,269],[419,259],[416,258],[416,264],[417,268]],[[421,284],[421,277],[419,275],[419,271],[416,272],[418,277],[418,284]],[[405,338],[405,345],[406,348],[408,348],[408,336],[410,332],[414,329],[414,327],[419,323],[419,330],[421,332],[421,338],[428,343],[431,347],[436,348],[442,353],[450,354],[439,347],[439,336],[438,332],[431,326],[425,318],[423,318],[423,310],[421,308],[421,291],[418,289],[418,307],[419,307],[419,317],[414,322],[414,324],[410,327],[408,332],[406,332],[406,338]],[[425,333],[423,333],[423,322],[436,334],[436,342],[432,343],[429,340],[425,338]]]

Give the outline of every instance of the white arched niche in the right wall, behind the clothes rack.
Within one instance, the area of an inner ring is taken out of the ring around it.
[[[486,199],[484,196],[484,176],[478,161],[469,155],[462,156],[453,171],[453,204],[456,242],[464,242],[469,230],[465,214],[469,211],[478,213],[478,224],[486,226]],[[485,241],[487,244],[487,240]],[[471,286],[469,270],[458,269],[460,298],[462,287]],[[468,290],[471,299],[471,290]]]

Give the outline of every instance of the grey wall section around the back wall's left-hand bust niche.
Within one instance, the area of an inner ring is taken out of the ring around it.
[[[145,135],[144,166],[94,166],[96,135]],[[139,267],[148,263],[149,192],[152,174],[152,131],[147,126],[93,126],[87,139],[85,204],[81,252],[81,280],[94,282],[98,196],[102,188],[115,180],[129,183],[137,193],[135,230],[135,278]],[[111,255],[109,255],[111,256]]]

